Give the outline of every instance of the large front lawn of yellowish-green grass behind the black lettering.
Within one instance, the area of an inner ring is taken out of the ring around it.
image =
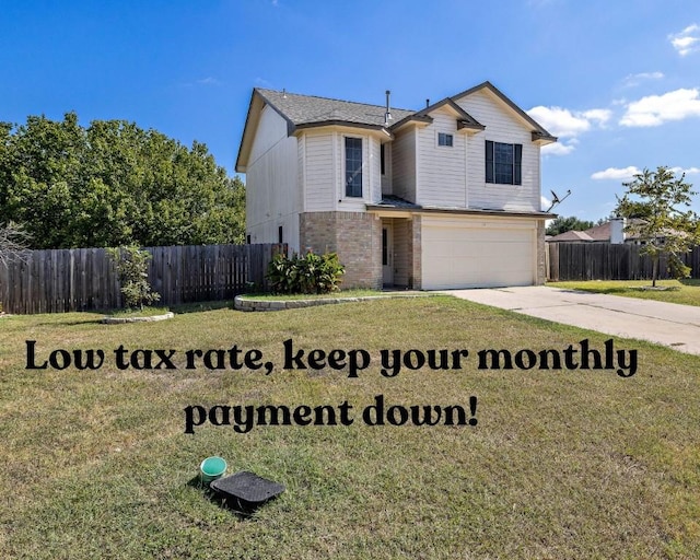
[[[98,314],[0,323],[0,558],[698,558],[700,357],[616,339],[639,371],[477,368],[477,350],[609,337],[448,296],[279,313],[190,310],[152,324]],[[463,370],[358,378],[283,371],[305,350],[468,349]],[[26,370],[56,349],[103,349],[97,371]],[[118,370],[113,349],[174,349],[177,370]],[[260,371],[185,370],[187,349],[259,349]],[[476,427],[202,425],[189,405],[468,407]],[[287,491],[241,518],[197,488],[223,456]]]

